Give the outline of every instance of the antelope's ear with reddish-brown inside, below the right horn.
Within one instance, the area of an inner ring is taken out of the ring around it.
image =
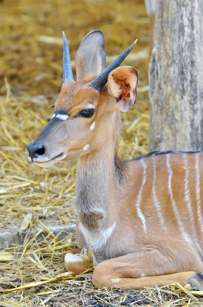
[[[108,76],[109,92],[116,97],[120,111],[127,112],[134,106],[137,97],[138,72],[130,66],[114,69]]]

